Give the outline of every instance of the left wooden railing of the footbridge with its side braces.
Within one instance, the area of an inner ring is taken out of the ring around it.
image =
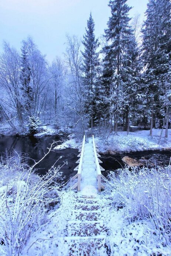
[[[80,191],[80,186],[81,186],[81,172],[82,172],[82,170],[83,170],[83,157],[84,157],[84,146],[85,146],[85,142],[86,142],[86,137],[85,137],[85,135],[84,135],[84,138],[83,138],[83,144],[82,144],[82,147],[81,147],[81,153],[80,153],[80,159],[79,159],[79,164],[78,164],[78,172],[77,172],[77,174],[74,176],[74,177],[72,177],[72,179],[74,180],[74,179],[76,179],[76,178],[78,178],[77,179],[77,183],[76,184],[74,184],[72,187],[71,187],[71,189],[75,189],[75,188],[77,188],[77,191]],[[74,170],[76,170],[76,169],[74,169]]]

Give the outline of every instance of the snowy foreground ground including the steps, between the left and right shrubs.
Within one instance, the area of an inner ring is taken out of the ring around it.
[[[85,197],[63,191],[60,196],[61,206],[49,212],[48,223],[33,234],[23,256],[170,256],[171,244],[158,239],[149,221],[129,223],[110,193]]]

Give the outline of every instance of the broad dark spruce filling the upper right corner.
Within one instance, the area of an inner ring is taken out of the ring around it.
[[[150,135],[156,112],[161,113],[160,90],[170,77],[171,68],[171,2],[150,0],[147,4],[147,19],[142,29],[142,58],[147,87],[148,109],[151,112]],[[167,117],[168,117],[168,110]],[[162,113],[161,113],[162,116]],[[167,123],[168,123],[168,118]]]

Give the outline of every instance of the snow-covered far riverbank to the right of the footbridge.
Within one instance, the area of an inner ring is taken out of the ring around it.
[[[153,129],[152,136],[150,131],[136,132],[114,132],[105,134],[101,137],[95,137],[96,143],[101,153],[129,152],[142,150],[165,150],[171,148],[171,129],[168,130],[168,138],[164,138],[165,130],[162,132],[160,139],[160,129]]]

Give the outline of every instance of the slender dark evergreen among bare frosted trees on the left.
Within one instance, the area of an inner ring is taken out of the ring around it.
[[[28,54],[26,51],[26,46],[23,44],[21,48],[21,73],[20,73],[20,81],[21,81],[21,90],[23,91],[23,107],[27,114],[31,115],[31,105],[33,102],[32,88],[30,86],[30,76],[31,69],[28,61]]]

